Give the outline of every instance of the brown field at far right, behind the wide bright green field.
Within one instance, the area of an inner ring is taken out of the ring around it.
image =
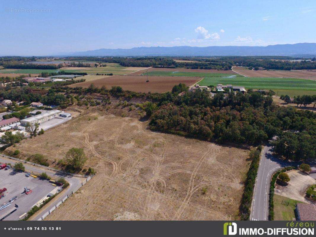
[[[316,71],[307,70],[248,70],[243,67],[233,67],[233,70],[248,77],[284,77],[316,80]]]

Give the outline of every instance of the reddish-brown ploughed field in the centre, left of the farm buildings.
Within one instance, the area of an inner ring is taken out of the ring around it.
[[[201,80],[200,77],[188,76],[149,76],[149,82],[146,82],[146,76],[109,76],[94,80],[93,83],[96,87],[105,86],[111,88],[112,86],[121,86],[123,90],[131,90],[136,92],[158,92],[163,93],[169,91],[174,85],[185,83],[191,86]],[[80,82],[70,85],[70,87],[88,88],[91,82]]]

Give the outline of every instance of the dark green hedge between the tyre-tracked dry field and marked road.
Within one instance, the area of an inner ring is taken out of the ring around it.
[[[247,173],[245,190],[241,198],[240,219],[242,221],[248,221],[250,217],[252,194],[256,182],[261,150],[262,146],[258,146],[257,149],[252,149],[249,153],[250,158],[252,158],[252,162]]]

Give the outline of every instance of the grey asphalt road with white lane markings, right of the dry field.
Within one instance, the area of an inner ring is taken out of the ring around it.
[[[267,221],[269,214],[269,189],[273,173],[286,166],[297,165],[289,161],[281,161],[272,155],[272,146],[267,144],[261,153],[261,159],[254,187],[250,220]]]

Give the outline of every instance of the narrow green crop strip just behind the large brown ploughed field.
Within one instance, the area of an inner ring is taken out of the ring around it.
[[[232,75],[228,73],[205,73],[205,72],[179,72],[179,71],[148,71],[143,73],[145,76],[208,76],[208,77],[242,77],[239,74]]]

